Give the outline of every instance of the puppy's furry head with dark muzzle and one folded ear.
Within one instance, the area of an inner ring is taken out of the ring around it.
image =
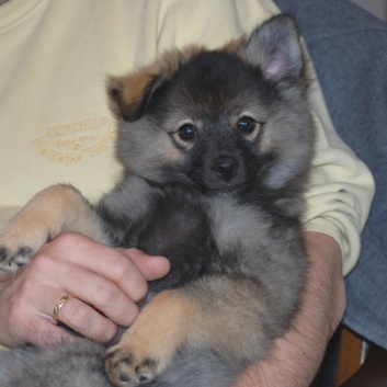
[[[110,79],[118,157],[145,179],[208,193],[288,186],[304,177],[311,152],[305,78],[287,15],[218,50],[167,53]]]

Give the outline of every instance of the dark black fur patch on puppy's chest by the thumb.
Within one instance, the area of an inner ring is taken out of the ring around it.
[[[127,247],[170,260],[169,275],[158,282],[162,287],[202,276],[218,257],[205,209],[200,201],[184,195],[158,196],[125,239]]]

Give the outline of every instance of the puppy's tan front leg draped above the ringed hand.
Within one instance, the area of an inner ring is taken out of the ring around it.
[[[0,232],[0,280],[14,275],[48,240],[78,231],[107,243],[101,220],[70,185],[53,185],[36,194]]]

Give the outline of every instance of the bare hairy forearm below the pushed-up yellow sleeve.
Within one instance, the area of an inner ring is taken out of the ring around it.
[[[305,232],[305,242],[310,266],[301,308],[269,357],[252,365],[238,387],[308,387],[318,372],[345,310],[345,288],[338,243],[318,232]]]

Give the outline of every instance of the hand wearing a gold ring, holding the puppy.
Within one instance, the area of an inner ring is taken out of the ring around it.
[[[0,283],[0,343],[42,346],[75,340],[53,318],[66,294],[73,298],[60,308],[61,322],[102,343],[117,340],[118,327],[136,319],[147,281],[164,276],[169,268],[166,258],[65,232],[46,243],[18,277]]]

